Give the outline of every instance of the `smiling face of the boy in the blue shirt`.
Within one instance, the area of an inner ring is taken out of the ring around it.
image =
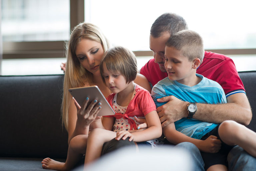
[[[188,85],[189,81],[194,78],[193,61],[189,61],[183,56],[181,51],[174,47],[165,46],[165,69],[170,80],[177,80],[181,84]]]

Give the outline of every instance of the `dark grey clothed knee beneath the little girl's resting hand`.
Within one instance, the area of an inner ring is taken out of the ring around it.
[[[117,141],[115,138],[110,140],[109,142],[104,143],[101,155],[107,154],[109,152],[115,151],[119,148],[126,147],[126,146],[134,146],[134,151],[136,151],[136,146],[133,141],[129,141],[128,138],[125,140]]]

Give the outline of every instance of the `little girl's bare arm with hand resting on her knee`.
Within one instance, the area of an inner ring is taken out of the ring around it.
[[[162,135],[162,127],[157,115],[157,112],[154,110],[149,112],[146,116],[146,121],[148,123],[148,128],[143,131],[136,131],[130,133],[129,131],[120,131],[117,133],[117,140],[129,138],[129,141],[142,142],[148,141],[155,138],[158,138]]]

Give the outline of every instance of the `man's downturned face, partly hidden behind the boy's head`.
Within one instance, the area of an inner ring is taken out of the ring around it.
[[[149,37],[149,48],[153,51],[153,56],[155,59],[155,63],[158,63],[159,68],[162,72],[166,72],[165,67],[164,67],[164,48],[165,48],[165,43],[167,40],[170,38],[169,33],[162,33],[162,36],[160,37],[153,37],[150,35]]]

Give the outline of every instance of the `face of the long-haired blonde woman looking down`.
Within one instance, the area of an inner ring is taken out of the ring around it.
[[[99,64],[104,54],[101,43],[82,39],[76,47],[76,56],[80,64],[94,75],[99,75]]]

